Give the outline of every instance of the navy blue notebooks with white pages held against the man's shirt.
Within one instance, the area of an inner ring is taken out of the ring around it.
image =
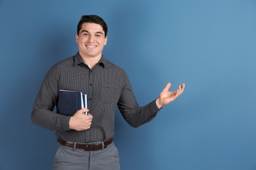
[[[73,116],[79,109],[87,109],[87,94],[82,92],[60,90],[58,100],[60,114],[66,116]]]

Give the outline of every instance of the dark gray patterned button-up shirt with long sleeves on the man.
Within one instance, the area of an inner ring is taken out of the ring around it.
[[[90,129],[75,131],[69,128],[70,116],[59,114],[59,90],[87,93],[88,109],[93,115]],[[55,106],[57,113],[53,112]],[[114,137],[116,106],[133,127],[149,122],[160,110],[156,100],[139,107],[123,69],[104,56],[93,69],[89,69],[77,52],[75,56],[56,63],[45,76],[33,105],[32,122],[56,131],[56,136],[66,141],[104,141]]]

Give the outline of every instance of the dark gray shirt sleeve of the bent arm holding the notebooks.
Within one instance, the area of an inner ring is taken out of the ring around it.
[[[33,105],[31,119],[33,124],[51,131],[68,131],[70,116],[53,112],[58,102],[59,75],[54,65],[45,76]]]

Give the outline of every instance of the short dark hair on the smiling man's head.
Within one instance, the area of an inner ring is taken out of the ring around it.
[[[81,30],[81,27],[83,23],[94,23],[94,24],[100,24],[102,26],[103,31],[105,32],[105,37],[108,33],[108,25],[100,16],[96,15],[83,15],[81,17],[81,20],[77,24],[77,35],[79,35],[79,31]]]

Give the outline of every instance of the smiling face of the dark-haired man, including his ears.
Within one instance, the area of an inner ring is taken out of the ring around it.
[[[102,50],[107,42],[101,25],[84,23],[79,35],[75,35],[75,38],[82,58],[101,58]]]

